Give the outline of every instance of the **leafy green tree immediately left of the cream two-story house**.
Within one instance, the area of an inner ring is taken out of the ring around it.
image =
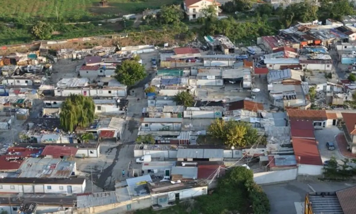
[[[178,23],[184,17],[180,5],[162,6],[157,14],[157,19],[161,24]]]

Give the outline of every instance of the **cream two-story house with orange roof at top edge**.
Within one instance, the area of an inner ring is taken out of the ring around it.
[[[216,7],[216,16],[221,12],[219,6],[221,4],[214,0],[185,0],[184,1],[184,11],[188,16],[189,20],[198,19],[199,17],[203,17],[204,13],[201,11],[202,9],[213,5]]]

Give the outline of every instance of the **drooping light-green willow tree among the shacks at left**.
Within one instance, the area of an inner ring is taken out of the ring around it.
[[[73,131],[76,126],[87,127],[94,121],[95,104],[91,97],[71,94],[61,107],[62,129]]]

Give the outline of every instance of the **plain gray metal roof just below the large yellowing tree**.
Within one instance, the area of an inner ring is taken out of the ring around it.
[[[224,158],[224,149],[178,148],[177,158]]]

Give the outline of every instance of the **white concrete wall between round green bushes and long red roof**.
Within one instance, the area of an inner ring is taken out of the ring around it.
[[[297,179],[298,169],[287,169],[281,171],[269,171],[253,174],[253,180],[257,184],[268,184],[286,182]]]

